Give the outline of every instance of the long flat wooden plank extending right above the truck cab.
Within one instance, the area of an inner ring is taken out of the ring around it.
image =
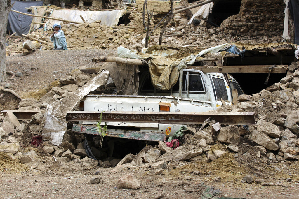
[[[196,68],[202,72],[246,72],[246,73],[268,73],[269,68]],[[286,68],[273,68],[271,73],[285,73]]]

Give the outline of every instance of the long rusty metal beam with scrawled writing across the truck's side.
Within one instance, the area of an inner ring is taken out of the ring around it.
[[[70,111],[66,121],[100,121],[100,111]],[[102,122],[202,124],[212,117],[219,124],[253,125],[253,112],[103,112]]]

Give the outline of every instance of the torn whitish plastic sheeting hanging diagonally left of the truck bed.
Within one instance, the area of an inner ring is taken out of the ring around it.
[[[66,112],[71,111],[84,96],[89,94],[89,92],[106,84],[108,76],[109,72],[103,70],[75,92],[68,94],[60,101],[48,104],[43,118],[45,124],[42,130],[43,139],[50,140],[52,144],[60,145],[62,143],[63,135],[67,130],[67,122],[65,121]]]

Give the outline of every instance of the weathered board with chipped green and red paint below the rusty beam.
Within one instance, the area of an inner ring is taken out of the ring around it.
[[[86,133],[92,135],[100,135],[97,131],[97,127],[87,126],[87,125],[77,125],[73,124],[74,132],[77,133]],[[155,133],[155,132],[140,132],[140,131],[128,131],[126,133],[115,133],[115,132],[106,132],[108,137],[115,137],[115,138],[126,138],[126,139],[133,139],[133,140],[144,140],[144,141],[164,141],[164,137],[166,135],[163,133]]]

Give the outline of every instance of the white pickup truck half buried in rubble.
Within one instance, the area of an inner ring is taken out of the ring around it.
[[[87,95],[84,105],[83,103],[80,105],[81,110],[84,112],[206,112],[222,105],[221,99],[225,101],[225,104],[232,104],[232,90],[236,89],[238,95],[243,93],[231,75],[228,75],[228,84],[222,73],[203,73],[200,70],[183,69],[183,77],[179,78],[171,90],[155,89],[146,69],[140,69],[139,77],[138,95]],[[181,86],[179,86],[180,81]],[[179,88],[181,88],[181,93]],[[95,124],[95,122],[83,122],[83,124]],[[126,138],[155,141],[161,140],[165,134],[167,137],[172,136],[181,126],[130,121],[109,122],[106,135],[112,137],[126,135]],[[83,132],[85,128],[89,127],[74,125],[73,131]],[[93,130],[89,128],[89,131],[86,130],[85,133],[98,134],[96,128]]]

